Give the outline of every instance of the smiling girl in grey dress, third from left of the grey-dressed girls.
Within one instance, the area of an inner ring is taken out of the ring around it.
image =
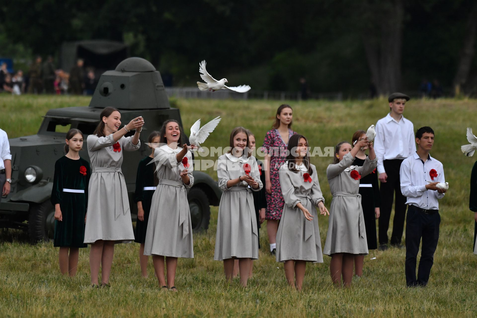
[[[257,217],[251,192],[260,191],[263,185],[257,160],[250,155],[245,128],[232,131],[230,148],[230,152],[218,158],[218,186],[224,192],[218,207],[214,259],[224,261],[225,277],[232,280],[234,258],[238,258],[240,284],[247,286],[250,260],[259,257]]]

